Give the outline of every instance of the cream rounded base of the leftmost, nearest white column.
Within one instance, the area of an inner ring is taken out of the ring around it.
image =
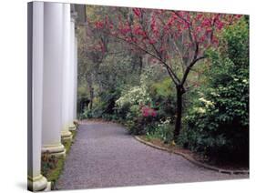
[[[51,190],[51,183],[41,174],[35,178],[27,178],[27,189],[30,191],[49,191]]]

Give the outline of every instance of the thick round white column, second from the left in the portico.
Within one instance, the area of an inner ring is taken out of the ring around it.
[[[42,152],[65,156],[61,144],[63,82],[63,4],[44,3],[44,81]]]

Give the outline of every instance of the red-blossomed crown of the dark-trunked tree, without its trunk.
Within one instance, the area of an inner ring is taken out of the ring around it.
[[[168,61],[169,65],[176,60],[176,56],[181,60],[188,58],[188,61],[194,58],[191,53],[197,53],[198,58],[204,56],[210,46],[218,46],[220,30],[241,18],[241,15],[144,8],[132,8],[129,14],[133,17],[121,14],[113,18],[106,16],[102,21],[96,21],[95,27],[129,43],[130,50],[149,52],[160,63]],[[196,46],[198,52],[195,52]]]

